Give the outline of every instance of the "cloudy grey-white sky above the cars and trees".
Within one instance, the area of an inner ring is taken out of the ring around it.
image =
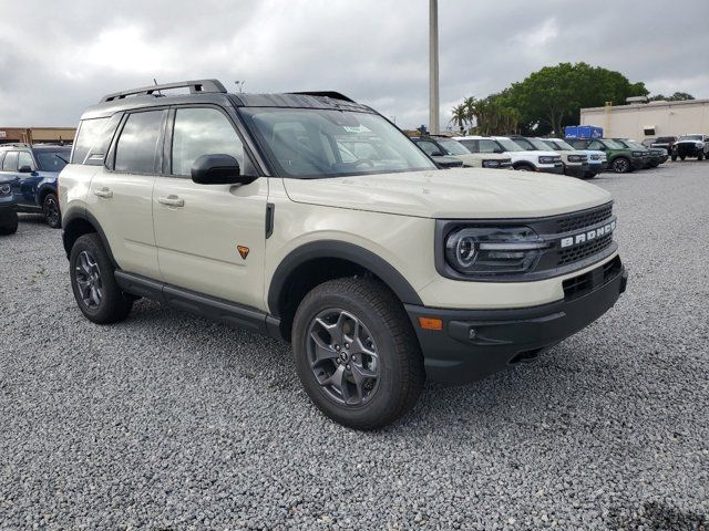
[[[707,0],[440,0],[441,119],[562,61],[709,97]],[[216,77],[336,90],[428,122],[428,0],[0,0],[0,126],[75,125],[104,93]],[[699,15],[692,15],[698,13]]]

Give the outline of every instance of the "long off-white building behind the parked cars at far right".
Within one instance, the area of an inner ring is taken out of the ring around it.
[[[709,100],[650,102],[580,110],[580,125],[603,127],[607,138],[709,134]]]

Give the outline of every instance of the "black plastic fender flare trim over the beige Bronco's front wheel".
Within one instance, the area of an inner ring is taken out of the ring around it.
[[[423,305],[421,298],[409,281],[388,261],[373,252],[339,240],[321,240],[305,243],[292,250],[278,264],[268,288],[268,308],[273,315],[279,316],[280,299],[290,274],[299,266],[318,258],[347,260],[362,267],[379,277],[404,304]]]

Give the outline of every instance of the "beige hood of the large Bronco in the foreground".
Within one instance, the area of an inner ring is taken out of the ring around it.
[[[565,176],[456,168],[322,179],[284,179],[295,202],[441,219],[537,218],[612,200]]]

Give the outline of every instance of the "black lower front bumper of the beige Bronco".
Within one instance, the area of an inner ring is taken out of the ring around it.
[[[444,384],[473,382],[531,361],[606,313],[626,289],[619,258],[564,281],[565,296],[514,310],[448,310],[405,305],[423,352],[427,377]],[[424,330],[419,317],[440,319]]]

